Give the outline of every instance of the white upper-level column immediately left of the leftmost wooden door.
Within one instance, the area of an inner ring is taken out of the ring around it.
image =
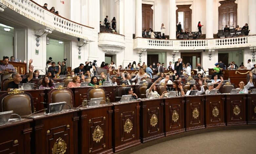
[[[135,37],[142,37],[142,0],[135,3]]]

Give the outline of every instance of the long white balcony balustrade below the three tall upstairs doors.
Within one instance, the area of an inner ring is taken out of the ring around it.
[[[166,50],[195,50],[215,48],[239,48],[256,46],[256,35],[224,39],[200,40],[164,40],[138,37],[134,39],[134,49],[166,49]]]

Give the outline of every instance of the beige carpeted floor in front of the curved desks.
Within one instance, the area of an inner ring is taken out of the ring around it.
[[[166,137],[168,138],[168,137]],[[187,154],[187,153],[256,153],[256,128],[231,129],[190,134],[176,139],[155,140],[119,153]],[[148,144],[148,145],[147,145]]]

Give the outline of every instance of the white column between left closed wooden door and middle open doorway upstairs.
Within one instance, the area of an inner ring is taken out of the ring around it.
[[[169,39],[176,39],[176,0],[169,0]]]

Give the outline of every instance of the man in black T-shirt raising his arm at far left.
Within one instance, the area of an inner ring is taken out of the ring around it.
[[[33,60],[29,60],[29,77],[22,79],[19,73],[13,73],[11,74],[11,77],[13,79],[13,81],[11,81],[8,84],[8,91],[10,91],[11,89],[18,89],[19,88],[19,84],[25,84],[27,82],[30,82],[30,80],[33,78],[33,70],[34,67],[31,65],[33,62]]]

